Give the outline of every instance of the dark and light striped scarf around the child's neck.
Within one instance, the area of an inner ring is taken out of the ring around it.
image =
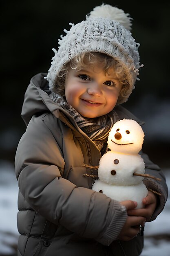
[[[114,110],[101,117],[87,118],[80,115],[60,94],[52,92],[50,97],[75,119],[79,128],[96,144],[102,155],[108,151],[107,139],[115,121]]]

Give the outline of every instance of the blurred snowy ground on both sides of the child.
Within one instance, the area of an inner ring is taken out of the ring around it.
[[[164,170],[170,191],[170,169]],[[14,256],[18,240],[16,216],[18,184],[14,167],[0,162],[0,256]],[[170,256],[170,192],[162,213],[145,225],[144,250],[141,256]]]

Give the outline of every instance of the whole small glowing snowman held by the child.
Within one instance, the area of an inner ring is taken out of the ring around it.
[[[144,142],[144,132],[134,120],[117,121],[108,136],[110,151],[99,162],[98,177],[92,189],[118,200],[134,200],[137,209],[148,194],[143,183],[145,164],[139,151]]]

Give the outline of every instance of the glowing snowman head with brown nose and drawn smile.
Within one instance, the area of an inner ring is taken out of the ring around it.
[[[108,136],[108,147],[110,150],[137,154],[144,143],[144,132],[141,126],[131,119],[117,121]]]

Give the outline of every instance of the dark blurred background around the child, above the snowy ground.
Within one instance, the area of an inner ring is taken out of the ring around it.
[[[6,0],[0,2],[1,86],[0,160],[14,162],[25,131],[20,117],[24,92],[32,76],[47,72],[58,38],[69,22],[85,19],[99,0]],[[161,167],[170,166],[170,2],[104,2],[124,9],[133,18],[132,35],[140,43],[140,81],[124,104],[146,121],[144,152]]]

